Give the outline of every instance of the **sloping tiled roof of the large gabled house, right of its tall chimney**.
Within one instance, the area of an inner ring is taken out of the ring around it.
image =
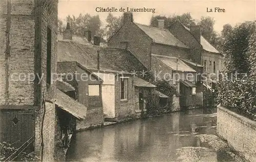
[[[168,30],[158,29],[147,25],[135,23],[142,31],[144,31],[155,43],[161,43],[165,45],[172,45],[182,48],[188,48],[184,43],[178,40]]]

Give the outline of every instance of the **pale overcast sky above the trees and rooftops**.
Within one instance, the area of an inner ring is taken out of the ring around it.
[[[185,12],[190,12],[193,18],[200,20],[201,16],[211,16],[215,19],[214,29],[217,32],[222,30],[226,23],[232,26],[244,21],[253,21],[256,18],[256,1],[255,0],[232,0],[232,1],[86,1],[86,0],[59,0],[58,17],[62,20],[66,19],[67,15],[78,16],[80,13],[89,13],[90,15],[99,15],[103,25],[106,24],[105,19],[108,12],[96,12],[97,7],[115,7],[123,8],[154,8],[152,12],[134,12],[134,21],[142,24],[149,24],[152,15],[180,15]],[[225,9],[224,13],[206,12],[206,8],[212,9],[219,7]],[[122,15],[122,12],[112,12],[115,16]]]

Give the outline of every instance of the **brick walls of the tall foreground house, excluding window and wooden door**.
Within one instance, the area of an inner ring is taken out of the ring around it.
[[[53,82],[47,90],[46,77],[43,75],[46,73],[46,30],[49,26],[52,31],[51,72],[54,73],[57,4],[57,0],[1,1],[0,4],[0,50],[4,54],[0,56],[0,75],[4,75],[0,79],[0,104],[39,106],[35,116],[35,152],[41,157],[42,130],[45,135],[42,157],[46,160],[53,157],[55,109],[51,105],[43,106],[42,98],[54,101],[56,89],[56,83]],[[43,77],[40,84],[38,77],[34,80],[35,74]],[[44,127],[41,127],[43,123]]]

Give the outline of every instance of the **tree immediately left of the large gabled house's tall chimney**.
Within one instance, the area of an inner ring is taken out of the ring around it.
[[[122,25],[123,16],[115,17],[111,12],[108,17],[106,17],[106,22],[108,23],[105,27],[105,37],[106,39],[114,35]]]

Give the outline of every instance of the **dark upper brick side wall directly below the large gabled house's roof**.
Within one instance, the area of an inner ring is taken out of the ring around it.
[[[170,57],[180,56],[180,58],[183,59],[190,59],[189,49],[175,48],[164,45],[152,45],[151,53]]]

